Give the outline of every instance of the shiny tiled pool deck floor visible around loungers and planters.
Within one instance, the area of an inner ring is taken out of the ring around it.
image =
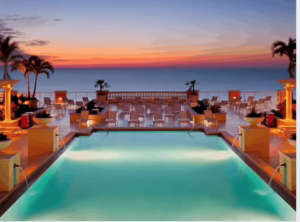
[[[274,107],[265,107],[264,110],[260,111],[265,111],[265,110],[270,110],[271,108]],[[110,106],[111,110],[116,110],[116,105],[111,105]],[[186,110],[187,107],[182,106],[182,110]],[[235,137],[238,134],[238,125],[248,125],[247,122],[243,118],[243,113],[239,113],[238,111],[235,111],[233,109],[229,110],[224,110],[227,112],[227,117],[226,117],[226,122],[220,122],[219,123],[219,128],[218,131],[220,132],[227,132],[229,133],[228,135],[231,136],[231,138]],[[54,116],[54,120],[52,121],[49,126],[60,126],[60,135],[64,137],[64,141],[68,141],[71,138],[74,137],[75,133],[72,132],[79,132],[79,127],[78,124],[73,124],[70,123],[70,113],[75,112],[75,110],[64,110],[62,112],[62,115],[60,115],[60,112],[58,114],[57,111],[50,110],[50,113],[52,116]],[[118,127],[117,128],[128,128],[128,115],[121,116],[118,114]],[[191,122],[191,127],[187,127],[182,124],[183,127],[180,127],[181,129],[190,129],[192,128],[192,122]],[[97,124],[91,123],[91,127],[97,127]],[[157,126],[159,127],[159,126]],[[157,128],[155,127],[155,128]],[[178,126],[178,120],[175,118],[167,118],[166,119],[166,126],[167,128],[176,130],[179,129]],[[201,126],[203,127],[203,126]],[[99,128],[99,126],[98,126]],[[144,129],[153,129],[153,120],[152,118],[149,117],[149,115],[146,114],[145,116],[145,121],[141,119],[140,122],[140,127],[139,128],[144,128]],[[99,128],[101,129],[101,127]],[[138,130],[137,127],[131,126],[130,129],[135,129]],[[107,130],[116,130],[116,127],[107,127]],[[210,129],[206,129],[207,132],[209,132]],[[212,131],[215,131],[214,128],[211,129]],[[27,130],[23,130],[24,133],[22,135],[16,135],[13,137],[13,143],[8,147],[5,152],[10,153],[10,152],[15,152],[15,151],[20,151],[21,152],[21,166],[24,168],[26,176],[30,177],[32,172],[36,171],[37,168],[39,168],[47,159],[51,157],[51,153],[44,154],[39,156],[37,159],[29,159],[28,157],[28,133]],[[91,128],[88,129],[82,129],[81,133],[88,135],[91,133]],[[284,135],[284,132],[279,133],[276,132],[276,128],[271,128],[271,140],[270,140],[270,158],[269,158],[269,165],[265,164],[262,160],[259,160],[260,163],[259,165],[262,168],[265,168],[266,171],[273,172],[274,168],[276,168],[279,165],[279,155],[278,151],[280,150],[295,150],[294,147],[292,147],[288,142],[287,142],[287,137]],[[60,142],[60,145],[62,143]],[[251,155],[250,155],[251,156]],[[253,155],[252,155],[253,156]],[[253,156],[253,158],[256,158]],[[23,175],[21,175],[21,180],[24,180]],[[280,180],[280,175],[279,173],[275,174],[274,180]],[[0,198],[4,197],[8,192],[0,192]],[[296,194],[295,192],[293,192]]]

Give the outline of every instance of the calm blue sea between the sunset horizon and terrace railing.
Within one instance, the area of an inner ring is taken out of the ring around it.
[[[2,69],[2,67],[1,67]],[[0,73],[1,70],[0,70]],[[27,91],[26,79],[20,72],[10,73],[13,79],[20,79],[15,90]],[[276,80],[288,78],[286,69],[67,69],[56,68],[46,78],[38,78],[37,92],[95,92],[95,80],[104,79],[110,84],[110,91],[184,91],[186,81],[196,79],[196,89],[206,92],[276,91],[282,85]],[[30,77],[31,91],[34,75]]]

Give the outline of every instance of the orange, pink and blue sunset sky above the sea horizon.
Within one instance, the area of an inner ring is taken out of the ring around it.
[[[285,66],[270,45],[296,37],[296,3],[9,0],[1,31],[55,66]]]

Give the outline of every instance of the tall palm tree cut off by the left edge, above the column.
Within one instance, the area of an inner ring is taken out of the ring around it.
[[[21,55],[13,55],[13,52],[19,49],[17,42],[10,42],[12,37],[0,37],[0,61],[4,66],[3,79],[10,79],[8,74],[7,64],[15,58],[22,58]]]

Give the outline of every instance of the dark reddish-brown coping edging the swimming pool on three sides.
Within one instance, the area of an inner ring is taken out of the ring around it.
[[[106,130],[109,131],[191,131],[190,127],[106,127]],[[88,127],[82,131],[71,131],[66,136],[64,136],[63,141],[66,146],[68,146],[74,139],[79,136],[91,136],[93,132],[105,131],[103,127]],[[192,131],[204,132],[206,136],[219,136],[222,138],[229,146],[234,142],[234,137],[227,133],[226,131],[217,131],[208,129],[205,127],[195,127]],[[261,159],[255,155],[245,153],[239,148],[239,145],[235,143],[232,147],[232,150],[257,174],[262,178],[266,183],[269,182],[271,174],[274,171],[269,164],[263,162]],[[31,171],[30,174],[26,175],[29,187],[35,183],[38,178],[61,156],[64,152],[64,145],[61,142],[59,148],[51,153],[35,170]],[[272,169],[273,171],[268,171]],[[26,169],[25,169],[26,171]],[[277,177],[276,177],[277,175]],[[279,180],[280,175],[278,172],[275,173],[274,179],[271,182],[271,188],[285,200],[295,211],[296,211],[296,196],[289,191]],[[0,217],[16,202],[16,200],[21,197],[22,194],[27,190],[27,185],[25,180],[20,182],[16,187],[9,191],[3,198],[0,200]]]

